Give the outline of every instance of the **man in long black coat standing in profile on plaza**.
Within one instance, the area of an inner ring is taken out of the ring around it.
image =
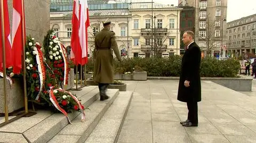
[[[197,102],[201,101],[201,80],[199,72],[201,50],[194,42],[194,38],[195,34],[193,31],[186,31],[182,38],[187,48],[182,57],[178,100],[187,103],[188,119],[180,122],[186,127],[197,127]]]

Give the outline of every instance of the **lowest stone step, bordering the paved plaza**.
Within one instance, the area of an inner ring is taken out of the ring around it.
[[[84,143],[117,142],[119,133],[132,99],[132,91],[120,91],[115,102],[103,115],[97,127]]]

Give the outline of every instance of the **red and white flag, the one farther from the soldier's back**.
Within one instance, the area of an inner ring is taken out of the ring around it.
[[[81,54],[82,50],[79,46],[79,37],[78,37],[78,30],[79,30],[79,1],[74,0],[73,4],[73,16],[72,16],[72,35],[71,35],[71,60],[74,64],[78,64],[79,61],[79,54]]]

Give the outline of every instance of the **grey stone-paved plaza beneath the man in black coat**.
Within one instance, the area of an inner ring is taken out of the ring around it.
[[[243,93],[202,81],[198,127],[179,123],[187,106],[177,100],[178,80],[125,81],[134,93],[118,143],[255,143],[255,81],[253,91]]]

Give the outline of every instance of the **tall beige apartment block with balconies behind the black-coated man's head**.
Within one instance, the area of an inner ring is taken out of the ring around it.
[[[195,41],[204,55],[225,56],[227,0],[179,0],[195,7]]]

